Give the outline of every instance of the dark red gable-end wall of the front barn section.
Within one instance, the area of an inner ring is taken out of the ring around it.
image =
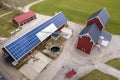
[[[93,46],[93,42],[90,42],[90,37],[83,36],[82,38],[78,38],[77,48],[82,50],[83,52],[90,54],[90,51]]]

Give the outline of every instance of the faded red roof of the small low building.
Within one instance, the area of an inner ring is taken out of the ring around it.
[[[24,21],[24,20],[26,20],[26,19],[28,19],[28,18],[34,16],[34,15],[35,15],[34,12],[29,11],[29,12],[23,13],[23,14],[21,14],[21,15],[15,17],[15,18],[13,18],[13,20],[15,20],[16,22],[19,23],[19,22],[22,22],[22,21]]]

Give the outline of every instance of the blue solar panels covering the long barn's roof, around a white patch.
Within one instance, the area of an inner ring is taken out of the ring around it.
[[[52,23],[54,23],[55,26],[59,29],[66,22],[67,19],[64,14],[59,13],[45,23],[37,26],[35,29],[27,32],[25,35],[6,45],[4,48],[9,52],[13,59],[19,61],[23,56],[25,56],[41,42],[40,39],[36,36],[38,32]]]

